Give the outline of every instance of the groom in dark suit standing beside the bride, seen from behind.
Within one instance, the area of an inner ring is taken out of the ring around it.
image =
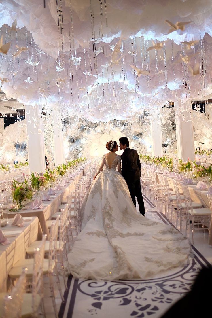
[[[119,138],[119,148],[124,150],[121,155],[121,173],[125,178],[134,206],[136,206],[135,197],[139,204],[140,214],[145,214],[144,200],[140,188],[140,159],[136,150],[129,148],[127,137]]]

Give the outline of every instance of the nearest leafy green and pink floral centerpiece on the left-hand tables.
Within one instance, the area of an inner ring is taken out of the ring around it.
[[[32,199],[32,188],[28,184],[28,180],[25,179],[24,182],[20,183],[16,180],[12,182],[12,196],[13,202],[16,201],[16,206],[12,206],[10,211],[23,208],[23,201]]]

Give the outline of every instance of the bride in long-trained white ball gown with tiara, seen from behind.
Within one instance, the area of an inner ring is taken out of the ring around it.
[[[85,197],[82,230],[68,255],[72,275],[95,280],[146,279],[187,264],[188,240],[174,227],[136,212],[121,176],[117,142],[107,142],[106,149],[110,152],[103,156]]]

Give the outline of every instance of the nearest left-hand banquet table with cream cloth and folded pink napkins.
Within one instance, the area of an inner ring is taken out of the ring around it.
[[[10,287],[8,273],[17,261],[24,259],[26,248],[34,241],[42,239],[42,229],[37,217],[27,217],[24,227],[9,224],[2,228],[4,235],[10,241],[8,245],[0,244],[0,292],[7,291]]]

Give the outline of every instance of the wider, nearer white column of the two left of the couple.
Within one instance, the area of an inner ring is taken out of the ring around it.
[[[42,109],[35,105],[25,106],[26,129],[28,135],[28,161],[30,173],[45,170],[44,128],[41,118]]]

